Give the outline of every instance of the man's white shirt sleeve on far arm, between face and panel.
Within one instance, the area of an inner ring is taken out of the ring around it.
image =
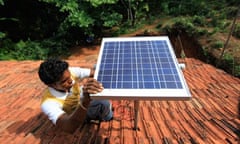
[[[91,69],[88,68],[69,67],[69,70],[79,78],[89,77],[91,73]]]

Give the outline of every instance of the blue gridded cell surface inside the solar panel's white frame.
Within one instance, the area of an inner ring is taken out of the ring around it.
[[[105,42],[100,64],[105,88],[182,88],[165,40]]]

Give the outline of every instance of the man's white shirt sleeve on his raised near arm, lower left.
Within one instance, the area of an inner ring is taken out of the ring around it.
[[[48,119],[53,122],[53,124],[56,125],[57,119],[64,114],[65,112],[62,110],[61,104],[55,102],[55,101],[45,101],[41,105],[42,111],[44,114],[48,116]]]

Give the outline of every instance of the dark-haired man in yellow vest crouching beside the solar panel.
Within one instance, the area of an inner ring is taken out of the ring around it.
[[[112,119],[108,100],[89,97],[103,90],[102,84],[92,78],[93,74],[93,69],[69,67],[59,59],[47,59],[40,64],[39,78],[48,86],[41,109],[53,124],[73,133],[85,121]],[[81,87],[79,80],[82,80]]]

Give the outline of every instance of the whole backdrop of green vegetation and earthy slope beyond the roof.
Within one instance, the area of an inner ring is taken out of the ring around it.
[[[0,60],[68,56],[72,47],[141,29],[168,35],[178,57],[240,77],[239,9],[239,0],[0,0]]]

